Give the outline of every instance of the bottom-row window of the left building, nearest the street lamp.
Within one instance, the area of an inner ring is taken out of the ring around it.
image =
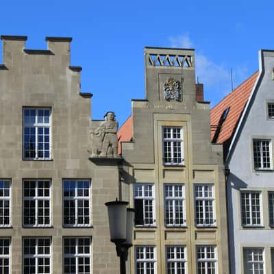
[[[64,238],[64,274],[90,274],[90,238]]]

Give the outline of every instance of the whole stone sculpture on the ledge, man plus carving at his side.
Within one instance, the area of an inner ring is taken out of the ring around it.
[[[90,132],[90,158],[120,158],[118,155],[117,129],[118,122],[114,112],[107,112],[105,121],[95,131]]]

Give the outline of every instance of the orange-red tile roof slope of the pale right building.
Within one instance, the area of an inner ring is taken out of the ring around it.
[[[229,95],[212,108],[210,111],[211,140],[214,140],[216,143],[223,143],[232,137],[242,114],[242,110],[244,110],[245,104],[256,83],[258,73],[259,72],[257,71],[246,79],[245,82],[242,82],[240,86],[235,88]],[[227,117],[223,123],[220,123],[221,117],[227,108],[229,108]]]

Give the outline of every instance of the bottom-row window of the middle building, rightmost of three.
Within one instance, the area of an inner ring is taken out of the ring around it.
[[[197,269],[199,274],[217,272],[216,247],[197,247]]]

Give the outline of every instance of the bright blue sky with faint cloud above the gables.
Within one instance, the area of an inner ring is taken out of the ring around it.
[[[82,66],[92,92],[92,119],[108,110],[119,123],[131,99],[145,97],[143,48],[195,49],[196,75],[212,106],[258,70],[258,50],[274,49],[274,1],[1,1],[1,34],[27,35],[28,49],[45,36],[71,36],[71,65]],[[0,57],[0,63],[2,58]]]

